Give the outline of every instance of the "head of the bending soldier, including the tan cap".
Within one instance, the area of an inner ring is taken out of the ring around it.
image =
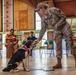
[[[35,9],[35,12],[38,12],[40,17],[42,17],[44,14],[47,14],[48,4],[39,3],[37,5],[37,8]]]

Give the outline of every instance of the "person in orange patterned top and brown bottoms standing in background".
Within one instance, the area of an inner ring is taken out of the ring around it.
[[[14,29],[10,30],[10,33],[6,35],[6,57],[11,58],[18,46],[17,35],[14,34]]]

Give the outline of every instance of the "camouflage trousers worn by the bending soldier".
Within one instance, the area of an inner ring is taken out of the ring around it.
[[[76,47],[73,43],[73,33],[70,25],[67,23],[61,30],[54,30],[54,40],[56,42],[56,56],[62,58],[62,39],[65,38],[71,50],[71,54],[76,54]]]

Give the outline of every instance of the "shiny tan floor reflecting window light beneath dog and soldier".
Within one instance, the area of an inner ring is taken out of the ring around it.
[[[76,68],[74,58],[72,55],[68,55],[64,52],[62,58],[62,68],[52,70],[52,66],[56,64],[55,55],[50,55],[49,51],[33,51],[33,57],[30,56],[29,66],[30,71],[23,71],[22,66],[18,68],[19,72],[2,72],[2,69],[7,65],[8,59],[5,56],[5,50],[2,50],[2,58],[0,57],[0,75],[76,75]],[[45,54],[46,53],[46,54]]]

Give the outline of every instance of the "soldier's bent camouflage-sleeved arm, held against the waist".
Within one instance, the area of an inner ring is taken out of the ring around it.
[[[55,12],[56,16],[58,16],[58,18],[59,18],[59,21],[58,21],[58,22],[56,23],[56,25],[55,25],[55,27],[57,28],[57,27],[63,25],[64,22],[66,22],[66,16],[65,16],[64,13],[63,13],[60,9],[58,9],[58,8],[55,8],[55,9],[54,9],[54,12]]]

